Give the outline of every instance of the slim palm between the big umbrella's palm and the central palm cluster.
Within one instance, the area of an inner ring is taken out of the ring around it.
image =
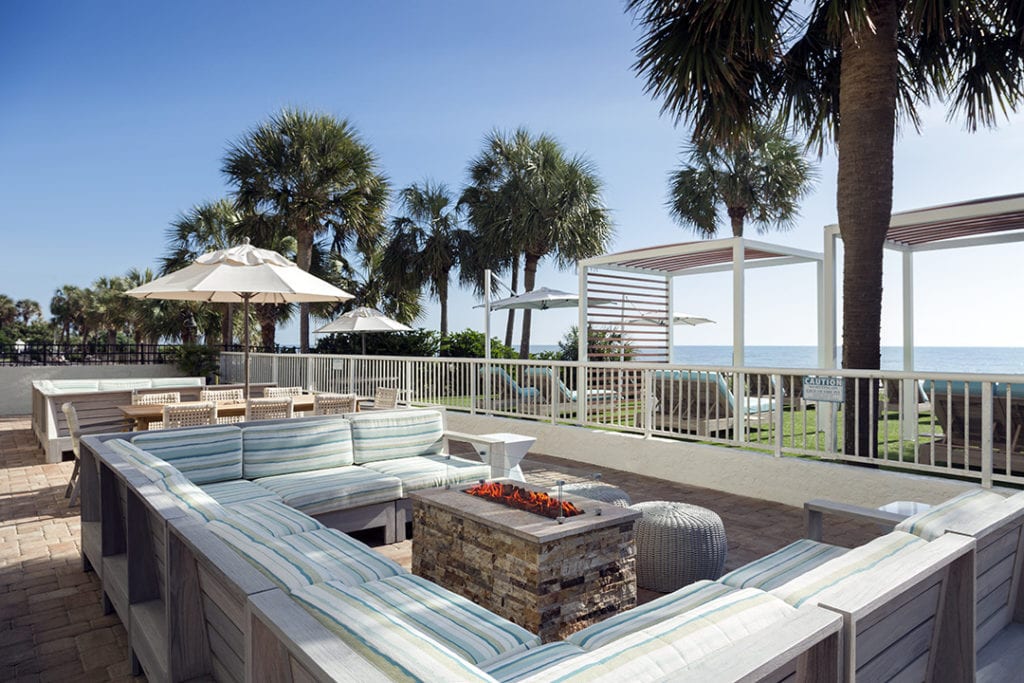
[[[391,224],[382,262],[384,276],[413,289],[426,287],[441,307],[441,339],[447,336],[447,294],[452,270],[472,237],[459,227],[461,216],[443,184],[424,181],[398,194],[404,215]]]

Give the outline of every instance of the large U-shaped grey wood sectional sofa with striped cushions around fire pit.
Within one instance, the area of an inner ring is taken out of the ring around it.
[[[798,560],[771,590],[701,582],[541,644],[343,532],[398,538],[409,490],[487,476],[443,427],[404,411],[85,437],[84,562],[133,664],[157,681],[973,675],[975,540],[956,533]]]

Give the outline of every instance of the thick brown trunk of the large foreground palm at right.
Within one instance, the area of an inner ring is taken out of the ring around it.
[[[873,0],[868,9],[873,31],[865,27],[843,39],[837,210],[845,253],[846,369],[877,370],[882,359],[882,256],[892,214],[898,5]],[[860,380],[858,392],[857,384],[846,386],[844,446],[849,455],[866,457],[877,443],[879,387]],[[874,421],[869,420],[871,405]]]

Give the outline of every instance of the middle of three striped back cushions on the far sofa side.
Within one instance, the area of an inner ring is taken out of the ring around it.
[[[352,464],[347,420],[291,422],[242,430],[246,478],[274,476]]]

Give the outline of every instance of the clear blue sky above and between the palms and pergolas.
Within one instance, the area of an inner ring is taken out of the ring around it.
[[[62,284],[156,266],[165,229],[224,196],[226,145],[283,106],[348,119],[393,185],[460,188],[493,129],[526,126],[587,155],[605,182],[614,250],[692,240],[665,209],[687,131],[659,116],[632,70],[639,32],[620,2],[37,2],[0,20],[0,293],[45,307]],[[1021,191],[1024,116],[968,134],[941,109],[896,148],[895,210]],[[799,226],[770,241],[821,250],[836,222],[827,155]],[[753,236],[752,236],[753,237]],[[1020,247],[920,256],[919,345],[1020,345]],[[883,343],[900,343],[899,261],[886,261]],[[542,266],[539,285],[575,291]],[[727,275],[677,282],[677,308],[718,325],[677,343],[731,343]],[[748,343],[815,342],[813,266],[748,280]],[[451,327],[482,329],[467,292]],[[1017,316],[1009,316],[1017,317]],[[418,325],[437,326],[437,306]],[[568,311],[534,316],[554,343]],[[504,329],[504,314],[495,315]],[[279,331],[295,343],[297,331]]]

